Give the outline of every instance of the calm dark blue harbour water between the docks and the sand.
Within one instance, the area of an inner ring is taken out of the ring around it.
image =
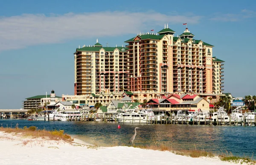
[[[214,126],[181,124],[119,124],[115,122],[59,122],[0,119],[3,127],[36,126],[46,130],[64,130],[91,144],[128,145],[130,137],[137,129],[135,145],[169,145],[175,150],[203,149],[214,153],[231,151],[237,156],[252,156],[256,153],[256,127]],[[254,157],[255,159],[256,157]]]

